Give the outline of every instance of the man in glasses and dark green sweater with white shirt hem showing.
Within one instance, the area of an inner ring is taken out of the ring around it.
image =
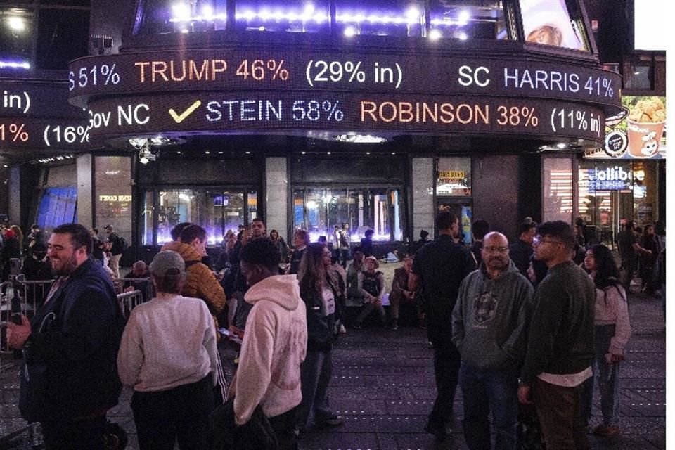
[[[534,292],[518,399],[534,401],[546,449],[589,449],[579,414],[581,383],[591,378],[596,290],[574,262],[574,231],[563,221],[541,224],[534,258],[548,275]]]

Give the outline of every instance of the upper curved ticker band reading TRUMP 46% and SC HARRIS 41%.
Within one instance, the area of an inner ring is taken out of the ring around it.
[[[380,92],[558,98],[620,105],[614,72],[565,63],[425,53],[238,49],[120,53],[75,60],[70,101],[169,91]],[[314,96],[319,94],[313,94]]]

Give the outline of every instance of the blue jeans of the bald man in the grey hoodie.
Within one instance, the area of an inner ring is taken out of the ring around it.
[[[462,361],[459,382],[464,398],[464,438],[470,450],[490,450],[490,423],[495,450],[515,450],[518,427],[518,368],[482,370]]]

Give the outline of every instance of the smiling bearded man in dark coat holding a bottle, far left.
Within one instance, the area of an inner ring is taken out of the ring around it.
[[[58,279],[32,321],[8,324],[8,344],[24,354],[19,409],[41,423],[47,449],[103,449],[105,414],[120,395],[115,364],[124,317],[90,254],[84,226],[57,226],[49,258]]]

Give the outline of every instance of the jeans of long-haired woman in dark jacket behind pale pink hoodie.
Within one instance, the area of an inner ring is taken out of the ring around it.
[[[302,402],[297,414],[298,428],[309,428],[312,424],[321,426],[333,416],[326,393],[332,370],[331,350],[307,350],[307,357],[300,366]]]

